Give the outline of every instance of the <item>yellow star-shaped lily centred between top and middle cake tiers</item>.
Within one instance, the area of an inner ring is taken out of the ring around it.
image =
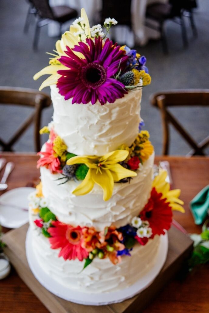
[[[114,182],[118,182],[125,177],[134,177],[136,172],[130,171],[118,162],[124,161],[128,156],[126,150],[115,150],[104,156],[74,156],[67,161],[68,165],[84,163],[89,167],[86,177],[82,183],[75,188],[73,194],[76,196],[89,193],[94,183],[103,189],[103,199],[107,201],[111,198]]]

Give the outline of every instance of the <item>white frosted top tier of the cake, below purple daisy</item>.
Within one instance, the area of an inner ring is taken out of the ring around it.
[[[102,156],[121,144],[130,146],[139,132],[141,90],[105,105],[72,104],[52,85],[51,98],[54,130],[76,155]]]

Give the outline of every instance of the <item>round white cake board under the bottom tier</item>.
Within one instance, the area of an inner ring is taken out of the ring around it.
[[[43,269],[39,266],[38,261],[32,247],[32,230],[29,227],[26,236],[26,256],[28,264],[33,272],[35,278],[39,283],[52,292],[54,295],[71,302],[75,302],[83,305],[108,305],[112,303],[122,302],[133,296],[139,294],[141,291],[151,285],[152,281],[159,274],[163,267],[168,252],[168,236],[167,233],[160,237],[160,244],[158,253],[156,256],[155,265],[150,268],[150,271],[140,278],[135,284],[122,289],[120,291],[105,292],[99,294],[91,294],[75,291],[64,287],[59,284],[56,280],[52,279],[46,274]]]

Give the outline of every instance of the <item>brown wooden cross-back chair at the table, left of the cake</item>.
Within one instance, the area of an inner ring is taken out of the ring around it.
[[[24,105],[34,107],[33,113],[26,119],[26,121],[18,128],[12,138],[5,142],[0,138],[0,145],[3,146],[3,151],[13,151],[12,146],[24,131],[34,121],[34,144],[36,151],[40,151],[40,121],[42,110],[49,107],[51,99],[48,95],[38,92],[33,89],[26,88],[13,88],[13,87],[0,87],[0,104],[7,105]]]

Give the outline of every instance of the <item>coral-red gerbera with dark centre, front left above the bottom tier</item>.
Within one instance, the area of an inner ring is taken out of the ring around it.
[[[59,257],[62,256],[65,260],[79,259],[79,261],[88,257],[89,253],[81,246],[82,228],[80,226],[73,227],[59,221],[53,221],[52,225],[54,227],[47,229],[51,235],[49,242],[52,249],[61,248]]]

